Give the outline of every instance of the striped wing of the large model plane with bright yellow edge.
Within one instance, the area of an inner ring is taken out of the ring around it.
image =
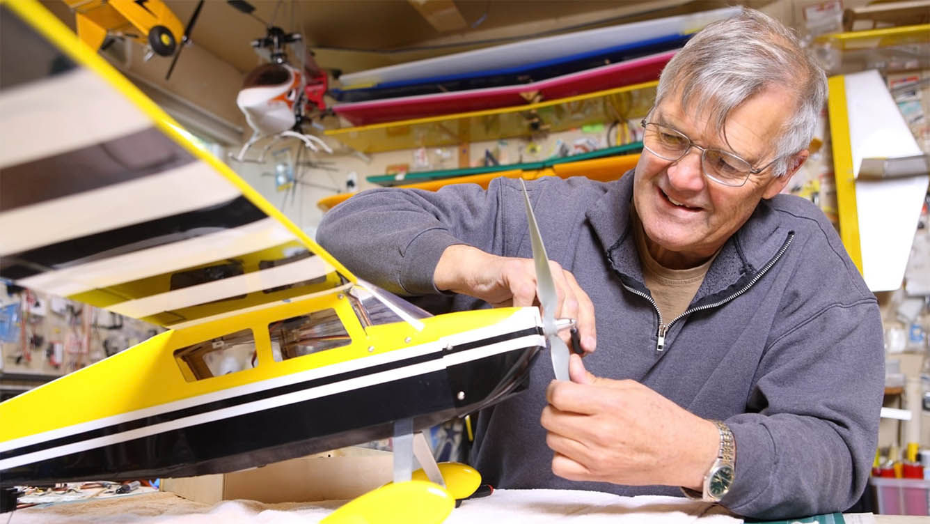
[[[0,279],[175,329],[356,281],[44,7],[0,23]]]

